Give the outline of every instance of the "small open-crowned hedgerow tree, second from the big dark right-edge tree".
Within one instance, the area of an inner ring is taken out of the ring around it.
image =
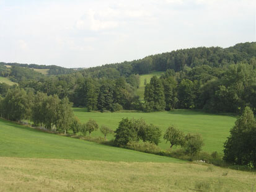
[[[170,148],[172,148],[172,146],[183,146],[184,144],[183,132],[176,129],[173,125],[166,130],[164,139],[166,139],[166,142],[170,142]]]

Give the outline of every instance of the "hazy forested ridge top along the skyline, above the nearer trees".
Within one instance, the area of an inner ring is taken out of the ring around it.
[[[174,71],[177,72],[182,71],[186,67],[194,68],[201,65],[207,65],[211,68],[221,68],[228,64],[236,64],[239,62],[253,64],[255,63],[255,58],[256,42],[247,42],[238,43],[229,48],[217,46],[171,51],[146,56],[143,59],[134,61],[105,64],[104,66],[85,69],[84,74],[101,77],[102,73],[106,72],[109,77],[116,77],[118,75],[127,77],[130,76],[130,74],[148,74],[152,71],[166,71],[167,69],[174,69]]]

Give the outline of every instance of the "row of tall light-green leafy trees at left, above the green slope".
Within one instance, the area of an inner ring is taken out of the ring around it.
[[[19,87],[9,89],[0,102],[1,116],[7,120],[33,121],[46,129],[64,133],[73,121],[71,107],[67,97],[60,100],[57,95],[33,94]]]

